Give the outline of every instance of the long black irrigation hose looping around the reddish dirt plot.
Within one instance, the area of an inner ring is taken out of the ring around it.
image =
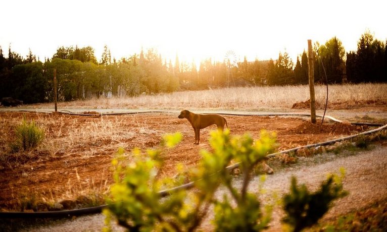
[[[28,111],[28,110],[21,110],[21,111]],[[33,112],[40,112],[40,111],[33,111]],[[88,115],[88,116],[95,115],[95,114],[73,113],[73,112],[70,112],[68,110],[60,111],[60,112],[68,113],[68,114],[72,114],[72,115]],[[135,113],[154,113],[154,112],[163,112],[163,113],[173,112],[173,113],[175,113],[174,111],[138,111],[138,112],[126,112],[126,113],[100,113],[100,114],[101,115],[113,115],[113,114],[135,114]],[[44,113],[47,113],[47,112],[44,112]],[[305,116],[305,117],[310,117],[310,114],[296,114],[296,113],[273,113],[273,114],[219,113],[219,114],[236,115],[236,116],[250,116],[250,115],[252,115],[252,116]],[[316,117],[322,117],[322,116],[316,115]],[[334,119],[333,117],[330,117],[330,116],[326,116],[326,118],[328,118],[334,122],[343,123],[342,121]],[[294,152],[294,151],[297,151],[298,149],[301,149],[301,148],[312,148],[312,147],[324,146],[324,145],[328,145],[328,144],[332,144],[332,143],[336,143],[336,142],[340,142],[340,141],[344,141],[344,140],[349,140],[349,139],[355,138],[355,137],[360,136],[360,135],[368,135],[368,134],[376,133],[376,132],[379,132],[381,130],[387,129],[387,124],[386,125],[370,124],[370,123],[351,123],[351,124],[352,125],[367,125],[367,126],[374,126],[374,127],[377,126],[379,128],[374,129],[374,130],[370,130],[370,131],[366,131],[366,132],[362,132],[362,133],[359,133],[356,135],[351,135],[351,136],[347,136],[347,137],[343,137],[343,138],[325,141],[322,143],[310,144],[310,145],[306,145],[306,146],[288,149],[285,151],[280,151],[277,153],[269,154],[266,157],[272,158],[272,157],[275,157],[276,155],[284,154],[284,153],[288,153],[288,152]],[[227,170],[235,169],[235,168],[239,167],[239,164],[240,163],[235,163],[233,165],[227,166],[226,169]],[[169,196],[169,195],[173,194],[174,192],[179,191],[181,189],[190,189],[194,185],[195,185],[195,182],[189,182],[187,184],[177,186],[177,187],[172,188],[172,189],[160,191],[159,195],[160,195],[160,197],[166,197],[166,196]],[[81,215],[86,215],[86,214],[101,213],[102,210],[104,208],[106,208],[107,206],[108,205],[105,204],[105,205],[94,206],[94,207],[89,207],[89,208],[82,208],[82,209],[48,211],[48,212],[0,212],[0,218],[71,218],[73,216],[81,216]]]

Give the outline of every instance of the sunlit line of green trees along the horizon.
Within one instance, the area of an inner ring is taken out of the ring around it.
[[[356,51],[345,52],[333,37],[314,45],[315,81],[324,83],[387,82],[387,42],[365,32]],[[166,61],[156,49],[139,54],[111,57],[105,45],[101,61],[94,49],[60,47],[51,59],[36,60],[31,50],[26,58],[9,47],[8,57],[0,47],[0,98],[13,97],[25,103],[54,99],[53,75],[57,73],[58,99],[70,101],[100,96],[135,96],[142,93],[173,92],[208,88],[308,83],[308,57],[304,51],[294,63],[288,53],[277,60],[230,64],[206,59],[199,69],[192,62]]]

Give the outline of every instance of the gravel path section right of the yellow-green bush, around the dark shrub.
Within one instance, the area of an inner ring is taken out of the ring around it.
[[[335,159],[323,164],[300,167],[295,170],[279,172],[269,177],[263,188],[268,194],[277,192],[280,195],[289,191],[291,177],[296,176],[298,184],[306,184],[309,190],[315,191],[329,173],[339,173],[340,167],[346,170],[343,186],[349,195],[338,199],[324,218],[335,217],[356,211],[372,202],[387,197],[387,147],[378,146],[371,151],[363,151],[355,156]],[[252,186],[252,190],[256,187]],[[264,196],[267,198],[268,195]],[[282,210],[273,212],[269,231],[280,230]]]

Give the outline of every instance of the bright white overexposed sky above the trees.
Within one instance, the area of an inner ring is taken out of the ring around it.
[[[117,60],[156,48],[164,59],[196,63],[276,60],[286,51],[295,62],[307,40],[320,44],[336,36],[346,51],[356,50],[366,30],[387,38],[387,1],[89,1],[12,0],[0,3],[0,46],[44,61],[58,47],[91,46],[101,60],[106,44]]]

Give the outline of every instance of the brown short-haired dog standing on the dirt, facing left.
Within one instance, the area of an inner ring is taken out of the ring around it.
[[[193,127],[193,131],[195,131],[195,143],[193,144],[199,144],[200,129],[216,124],[219,130],[223,130],[224,125],[227,126],[226,119],[219,114],[196,114],[184,109],[180,112],[178,118],[187,119]]]

